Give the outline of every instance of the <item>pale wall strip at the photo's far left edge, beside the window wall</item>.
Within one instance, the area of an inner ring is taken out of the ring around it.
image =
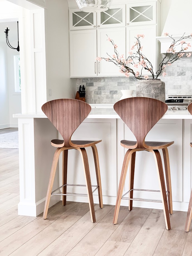
[[[0,43],[0,129],[9,127],[9,92],[7,83],[7,47]]]

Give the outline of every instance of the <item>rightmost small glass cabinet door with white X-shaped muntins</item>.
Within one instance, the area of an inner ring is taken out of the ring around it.
[[[156,24],[156,2],[127,4],[127,25]]]

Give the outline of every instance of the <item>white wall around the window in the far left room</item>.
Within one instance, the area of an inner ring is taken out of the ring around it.
[[[10,42],[13,47],[17,47],[17,41]],[[14,55],[19,55],[17,50],[7,46],[7,74],[9,88],[9,123],[10,127],[18,126],[18,119],[13,118],[13,114],[21,113],[21,93],[14,92]]]

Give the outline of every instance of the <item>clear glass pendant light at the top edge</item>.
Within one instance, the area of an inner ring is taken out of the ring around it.
[[[87,13],[107,11],[112,1],[113,0],[76,0],[79,9]]]

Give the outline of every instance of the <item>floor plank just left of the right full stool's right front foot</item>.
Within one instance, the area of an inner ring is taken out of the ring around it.
[[[164,230],[163,210],[152,210],[124,256],[152,256]]]

